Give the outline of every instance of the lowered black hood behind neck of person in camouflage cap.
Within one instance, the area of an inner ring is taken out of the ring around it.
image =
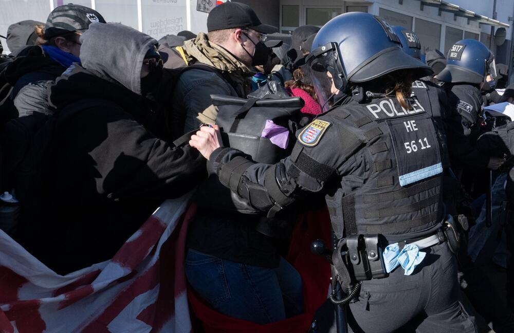
[[[46,72],[58,77],[65,70],[66,67],[51,60],[41,46],[30,46],[24,48],[7,66],[3,76],[9,84],[14,85],[22,76],[33,71]]]

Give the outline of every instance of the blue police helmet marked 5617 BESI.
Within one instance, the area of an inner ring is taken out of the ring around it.
[[[451,83],[481,83],[487,75],[496,77],[494,55],[483,43],[464,39],[452,45],[446,67],[436,79]]]

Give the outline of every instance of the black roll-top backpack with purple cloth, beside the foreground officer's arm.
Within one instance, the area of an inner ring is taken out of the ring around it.
[[[259,163],[274,164],[289,155],[295,145],[295,132],[304,118],[300,112],[304,102],[299,97],[280,99],[243,99],[225,95],[211,95],[218,109],[216,124],[221,128],[223,144],[240,150]],[[266,120],[283,126],[289,131],[286,149],[261,137]],[[216,195],[212,195],[215,193]],[[248,201],[223,186],[217,175],[211,174],[197,193],[200,207],[245,214],[261,214]]]

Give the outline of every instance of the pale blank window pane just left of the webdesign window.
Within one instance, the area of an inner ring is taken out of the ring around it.
[[[96,0],[96,10],[107,22],[121,23],[138,29],[137,0]]]

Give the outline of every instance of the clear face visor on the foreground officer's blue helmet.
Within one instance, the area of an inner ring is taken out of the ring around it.
[[[306,60],[322,111],[334,105],[334,97],[344,86],[337,44],[329,43],[312,51]]]

